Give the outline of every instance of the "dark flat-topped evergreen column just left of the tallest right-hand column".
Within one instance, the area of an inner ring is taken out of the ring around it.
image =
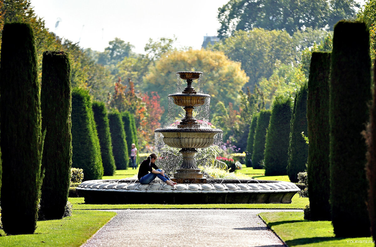
[[[328,135],[330,61],[331,53],[312,52],[307,97],[307,179],[311,220],[331,220]]]

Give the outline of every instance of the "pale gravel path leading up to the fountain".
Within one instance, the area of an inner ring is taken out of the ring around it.
[[[257,216],[278,209],[124,209],[85,247],[285,246]]]

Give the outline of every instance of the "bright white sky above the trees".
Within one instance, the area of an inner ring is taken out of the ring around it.
[[[201,49],[203,37],[217,35],[218,8],[229,0],[31,0],[46,27],[83,48],[103,51],[115,37],[144,53],[152,38],[177,37],[177,47]],[[364,3],[364,0],[356,0]],[[59,25],[55,28],[58,20]]]

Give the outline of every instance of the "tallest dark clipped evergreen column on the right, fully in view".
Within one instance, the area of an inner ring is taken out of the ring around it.
[[[370,236],[365,204],[367,148],[361,135],[371,100],[369,45],[365,23],[339,21],[335,25],[329,86],[329,160],[332,224],[337,237]]]

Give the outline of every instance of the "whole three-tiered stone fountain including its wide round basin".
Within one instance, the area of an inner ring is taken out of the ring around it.
[[[192,82],[202,72],[177,72],[186,80],[182,93],[168,95],[174,103],[184,107],[185,117],[177,128],[160,128],[165,144],[181,148],[183,163],[176,169],[170,186],[153,182],[140,184],[138,180],[111,179],[82,182],[77,188],[85,203],[291,203],[291,198],[300,191],[294,183],[269,180],[206,179],[197,168],[194,155],[196,148],[206,148],[214,143],[214,136],[223,133],[220,129],[201,128],[193,117],[194,107],[205,104],[206,94],[197,93]]]

